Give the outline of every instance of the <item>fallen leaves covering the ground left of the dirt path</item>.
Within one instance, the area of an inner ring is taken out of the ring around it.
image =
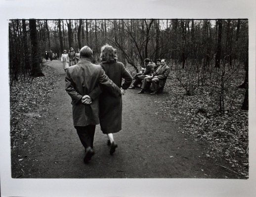
[[[42,67],[44,77],[33,81],[20,81],[10,87],[10,128],[11,148],[26,144],[24,141],[31,136],[29,130],[34,119],[42,117],[43,112],[37,111],[39,106],[47,103],[56,83],[56,72],[48,66]]]

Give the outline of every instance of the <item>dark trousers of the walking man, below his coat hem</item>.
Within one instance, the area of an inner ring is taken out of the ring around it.
[[[87,125],[85,127],[75,126],[75,129],[77,130],[77,134],[80,138],[80,141],[85,147],[85,149],[89,146],[93,148],[95,127],[96,127],[95,125]]]

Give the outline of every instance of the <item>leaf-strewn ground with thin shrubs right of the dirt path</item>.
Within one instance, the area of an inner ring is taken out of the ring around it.
[[[237,88],[244,73],[236,72],[226,80],[223,94],[223,111],[220,111],[220,87],[206,79],[194,94],[186,94],[171,71],[165,86],[167,97],[161,97],[163,116],[184,125],[184,132],[195,140],[206,140],[211,145],[207,157],[224,158],[229,169],[248,178],[248,111],[241,110],[245,89]],[[160,114],[160,113],[159,113]]]

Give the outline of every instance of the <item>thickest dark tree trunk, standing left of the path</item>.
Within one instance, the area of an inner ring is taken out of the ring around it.
[[[31,56],[32,56],[31,75],[33,77],[44,76],[40,68],[36,20],[33,20],[33,19],[29,20],[29,28],[30,28]]]

